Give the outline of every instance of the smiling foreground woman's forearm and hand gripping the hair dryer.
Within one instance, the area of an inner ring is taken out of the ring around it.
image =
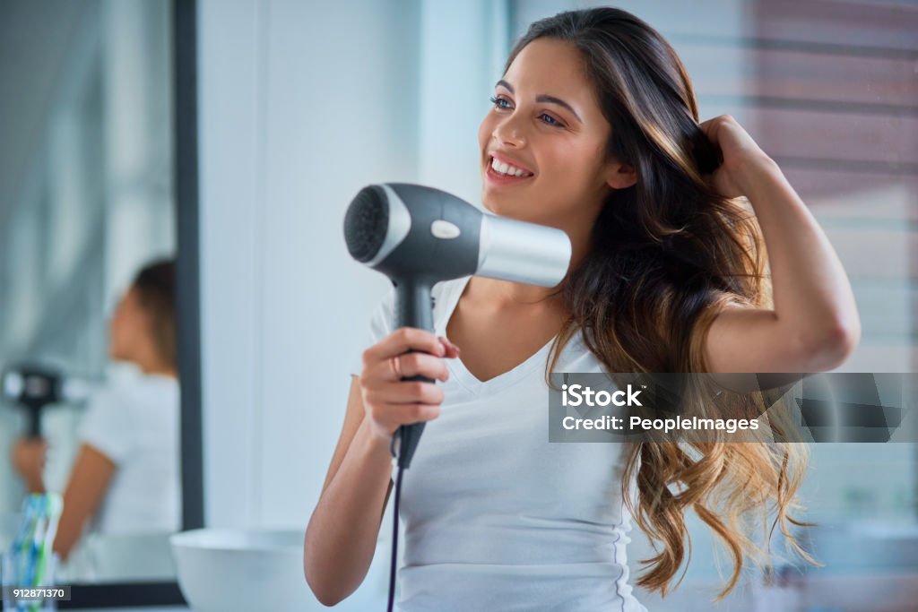
[[[417,352],[405,354],[409,349]],[[373,562],[392,485],[392,434],[400,425],[440,414],[442,390],[402,376],[445,380],[439,358],[456,355],[445,339],[415,328],[397,329],[364,351],[364,371],[351,381],[341,437],[303,547],[303,571],[322,604],[334,606],[351,595]],[[390,365],[394,356],[398,372]]]

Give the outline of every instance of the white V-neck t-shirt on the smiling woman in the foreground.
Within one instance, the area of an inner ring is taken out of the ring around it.
[[[436,335],[470,278],[434,285]],[[375,309],[371,343],[391,333],[394,299],[393,290]],[[628,584],[627,443],[548,441],[550,348],[486,382],[446,360],[441,414],[402,483],[400,610],[646,612]],[[554,371],[605,372],[579,335]]]

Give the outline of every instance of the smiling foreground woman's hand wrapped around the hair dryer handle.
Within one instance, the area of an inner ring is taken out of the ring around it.
[[[406,352],[409,349],[413,352]],[[374,435],[390,440],[401,425],[429,421],[440,415],[443,392],[436,384],[403,381],[422,375],[445,381],[443,358],[459,356],[459,347],[419,328],[398,328],[364,351],[360,374],[364,410]]]

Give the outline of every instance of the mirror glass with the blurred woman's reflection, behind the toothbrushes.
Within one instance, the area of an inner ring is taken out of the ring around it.
[[[174,579],[167,0],[0,5],[0,549],[58,492],[60,584]]]

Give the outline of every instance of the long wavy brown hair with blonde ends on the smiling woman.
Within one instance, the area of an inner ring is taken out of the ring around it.
[[[610,193],[588,256],[559,285],[570,317],[554,341],[546,379],[566,342],[581,331],[609,373],[708,372],[703,339],[722,307],[773,303],[752,207],[745,198],[719,195],[704,178],[722,157],[699,126],[689,75],[654,28],[615,8],[568,11],[533,23],[504,72],[523,47],[543,37],[580,51],[612,128],[606,155],[633,165],[638,175],[637,184]],[[666,596],[681,582],[670,585],[686,561],[687,540],[691,556],[689,508],[733,562],[717,600],[733,590],[745,560],[771,571],[770,544],[753,539],[754,527],[761,526],[766,542],[777,527],[790,549],[816,563],[789,527],[811,525],[789,515],[800,508],[804,444],[670,440],[628,449],[622,497],[658,552],[641,561],[646,567],[636,584]]]

